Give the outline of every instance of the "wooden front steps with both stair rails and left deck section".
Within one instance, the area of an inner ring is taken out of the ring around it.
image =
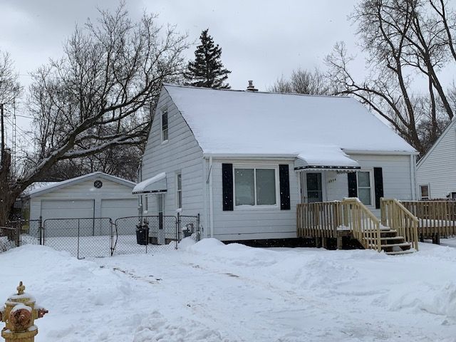
[[[335,202],[298,204],[297,235],[311,237],[316,244],[349,235],[366,249],[404,254],[418,251],[418,218],[396,199],[382,199],[382,219],[378,219],[358,198]]]

